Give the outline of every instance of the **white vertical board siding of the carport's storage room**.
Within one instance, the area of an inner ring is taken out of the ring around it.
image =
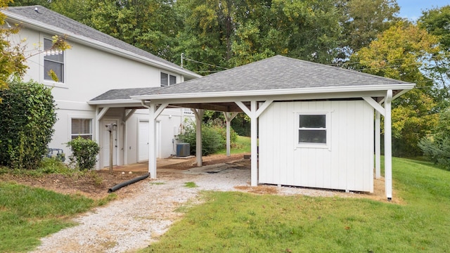
[[[297,146],[301,112],[328,113],[328,148]],[[364,100],[272,103],[259,117],[259,183],[373,192],[373,121]]]

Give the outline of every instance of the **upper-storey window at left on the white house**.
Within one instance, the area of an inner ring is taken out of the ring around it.
[[[44,79],[53,80],[49,74],[53,70],[58,82],[64,82],[64,52],[52,47],[51,39],[44,39]]]

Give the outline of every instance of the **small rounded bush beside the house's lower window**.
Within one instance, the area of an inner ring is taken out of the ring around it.
[[[72,149],[72,155],[69,157],[71,164],[76,164],[80,170],[93,169],[96,166],[100,146],[95,141],[78,137],[67,144]]]

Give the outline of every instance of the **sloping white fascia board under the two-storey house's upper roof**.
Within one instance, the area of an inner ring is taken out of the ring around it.
[[[84,37],[82,35],[74,34],[72,32],[69,32],[67,30],[60,29],[58,27],[53,27],[52,25],[47,25],[43,22],[39,22],[37,20],[32,20],[30,18],[24,18],[21,15],[15,15],[14,13],[8,13],[8,11],[2,11],[8,18],[11,18],[13,20],[17,20],[19,22],[25,22],[29,25],[32,25],[35,28],[38,28],[38,30],[49,32],[49,33],[55,33],[55,34],[64,34],[68,35],[70,40],[76,41],[79,44],[85,44],[88,46],[91,46],[92,48],[101,49],[103,51],[108,51],[110,53],[116,54],[118,56],[122,56],[125,58],[129,58],[131,60],[137,60],[141,63],[146,63],[148,65],[153,65],[155,67],[160,67],[164,70],[169,70],[171,72],[177,73],[177,74],[184,74],[188,77],[202,77],[200,74],[195,74],[193,72],[190,72],[188,70],[184,70],[181,67],[173,67],[171,65],[167,65],[165,63],[158,62],[157,60],[152,60],[150,58],[146,58],[143,56],[139,56],[136,53],[132,53],[130,51],[126,51],[122,48],[117,48],[115,46],[111,46],[109,44],[103,43],[101,41],[97,41],[95,39],[89,39],[87,37]],[[94,29],[94,28],[93,28]],[[125,43],[125,42],[124,42]]]

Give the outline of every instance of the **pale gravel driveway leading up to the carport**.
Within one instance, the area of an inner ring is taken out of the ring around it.
[[[78,226],[43,238],[34,252],[134,252],[147,247],[165,233],[182,214],[175,212],[188,200],[195,200],[199,190],[236,190],[248,186],[250,169],[224,167],[186,173],[161,173],[158,180],[136,183],[132,197],[111,202],[79,216]],[[193,181],[197,188],[186,188]],[[276,187],[275,187],[276,188]],[[326,190],[277,188],[281,194],[334,195]]]

